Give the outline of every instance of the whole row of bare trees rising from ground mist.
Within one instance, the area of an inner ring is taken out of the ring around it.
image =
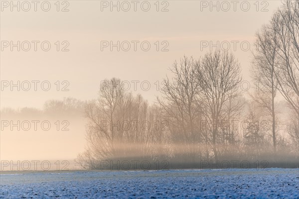
[[[99,99],[85,108],[87,150],[78,162],[100,169],[101,160],[135,158],[169,160],[172,168],[182,168],[199,160],[264,158],[272,166],[298,167],[299,1],[285,1],[256,33],[256,43],[252,78],[263,88],[250,92],[250,99],[239,87],[240,63],[226,51],[175,61],[153,104],[124,91],[120,79],[105,80]],[[280,117],[281,104],[287,118]],[[133,128],[133,121],[154,127]],[[156,128],[162,122],[167,129]]]

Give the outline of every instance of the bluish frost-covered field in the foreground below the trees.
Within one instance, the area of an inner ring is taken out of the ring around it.
[[[1,174],[0,198],[299,198],[299,169]]]

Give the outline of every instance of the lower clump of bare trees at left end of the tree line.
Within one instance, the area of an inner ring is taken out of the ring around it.
[[[105,80],[99,99],[88,102],[85,113],[87,149],[78,156],[84,168],[99,169],[101,160],[157,157],[156,149],[165,143],[158,109],[125,92],[119,79]]]

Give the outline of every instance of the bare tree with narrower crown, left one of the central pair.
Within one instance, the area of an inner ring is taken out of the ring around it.
[[[176,144],[183,144],[186,154],[194,158],[195,145],[199,144],[199,131],[195,130],[196,121],[200,117],[198,101],[199,84],[195,76],[196,61],[183,57],[169,69],[173,75],[170,80],[164,79],[161,89],[162,99],[157,98],[171,121],[172,139]]]

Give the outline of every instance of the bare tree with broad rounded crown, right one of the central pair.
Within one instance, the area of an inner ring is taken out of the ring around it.
[[[240,64],[228,52],[210,52],[197,62],[197,80],[204,114],[211,126],[214,157],[218,159],[217,138],[224,104],[239,96]]]

